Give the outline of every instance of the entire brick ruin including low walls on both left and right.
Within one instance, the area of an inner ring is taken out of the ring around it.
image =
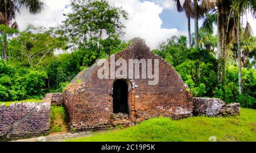
[[[112,57],[105,60],[108,61],[108,66],[112,64]],[[140,63],[139,59],[158,59],[158,66],[152,62],[152,68],[159,67],[158,83],[148,85],[151,79],[144,79],[142,76],[138,79],[132,75],[112,79],[111,71],[106,73],[106,78],[110,79],[100,79],[98,71],[104,65],[93,65],[79,73],[63,93],[47,94],[44,103],[31,101],[10,106],[0,105],[0,141],[47,135],[51,105],[65,106],[71,131],[130,126],[159,116],[181,119],[240,114],[240,105],[237,103],[226,104],[221,99],[193,97],[174,68],[150,52],[141,39],[135,40],[123,52],[116,54],[113,61],[118,59],[138,59],[138,63],[135,62],[134,65]],[[118,66],[115,67],[117,69]],[[143,69],[145,67],[139,67],[139,71]],[[151,70],[152,74],[156,73],[154,68]]]

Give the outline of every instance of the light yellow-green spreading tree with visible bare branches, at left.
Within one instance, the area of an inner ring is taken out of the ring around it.
[[[56,49],[65,49],[65,40],[53,37],[53,29],[35,28],[33,25],[19,32],[18,36],[10,40],[9,56],[12,62],[29,65],[31,68],[39,66],[44,58],[53,56]]]

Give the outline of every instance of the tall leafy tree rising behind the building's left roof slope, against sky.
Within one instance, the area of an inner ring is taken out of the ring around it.
[[[114,48],[106,46],[118,47],[120,44],[119,36],[125,28],[121,18],[127,19],[127,13],[105,0],[73,1],[72,10],[60,27],[60,34],[75,48],[89,49],[96,57],[100,54],[109,56]]]

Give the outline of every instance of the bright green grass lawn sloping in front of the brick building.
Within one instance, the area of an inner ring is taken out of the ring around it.
[[[207,142],[214,136],[217,141],[256,141],[256,110],[241,109],[238,117],[191,117],[179,121],[154,118],[118,131],[96,132],[92,137],[68,139],[76,142]]]

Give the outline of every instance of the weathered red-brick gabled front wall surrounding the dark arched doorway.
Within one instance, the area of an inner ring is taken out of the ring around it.
[[[115,60],[159,59],[159,83],[149,86],[150,79],[126,79],[129,83],[129,120],[141,122],[151,117],[180,119],[192,116],[192,92],[164,59],[150,52],[143,41],[137,40],[125,51],[115,55]],[[110,59],[108,59],[110,62]],[[152,62],[154,67],[154,62]],[[113,83],[115,79],[99,79],[98,66],[82,71],[64,91],[64,104],[68,110],[71,129],[92,130],[112,125]],[[118,67],[116,67],[118,69]],[[128,67],[127,67],[127,70]],[[154,69],[153,69],[154,73]],[[129,72],[128,72],[129,74]],[[77,84],[77,80],[81,83]]]

